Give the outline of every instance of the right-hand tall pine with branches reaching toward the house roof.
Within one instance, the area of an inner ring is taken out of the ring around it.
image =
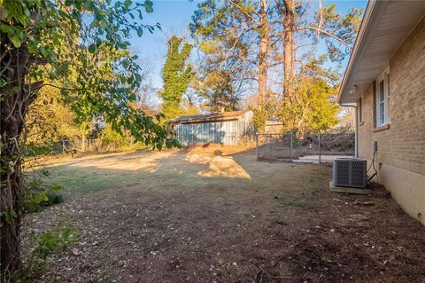
[[[314,51],[323,42],[327,48],[326,58],[340,63],[354,43],[361,11],[351,9],[342,15],[336,12],[336,4],[322,6],[321,0],[318,0],[318,8],[305,1],[278,0],[276,9],[282,17],[283,104],[290,106],[296,99],[296,76],[306,68],[303,59],[307,59],[307,64],[315,60]],[[313,48],[313,52],[308,47]],[[313,74],[314,70],[308,73]]]

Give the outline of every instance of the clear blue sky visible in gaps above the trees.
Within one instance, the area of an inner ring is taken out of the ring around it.
[[[313,0],[314,2],[314,0]],[[151,67],[151,80],[155,87],[160,88],[162,79],[161,67],[166,59],[166,38],[170,35],[189,35],[188,25],[199,1],[189,0],[157,0],[153,1],[154,12],[144,14],[144,23],[161,24],[162,32],[156,30],[153,35],[145,31],[142,37],[134,36],[131,40],[131,50],[141,58],[147,60]],[[347,12],[351,7],[365,8],[366,0],[356,1],[326,1],[322,4],[336,4],[336,10]]]

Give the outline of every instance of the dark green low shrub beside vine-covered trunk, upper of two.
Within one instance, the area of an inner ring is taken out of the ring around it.
[[[23,197],[24,211],[38,212],[43,207],[64,201],[62,185],[46,184],[41,179],[33,179],[26,183],[26,193]]]

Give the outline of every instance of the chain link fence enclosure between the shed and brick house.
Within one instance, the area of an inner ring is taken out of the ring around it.
[[[353,133],[305,134],[292,132],[258,133],[256,153],[259,161],[327,162],[335,156],[353,156]]]

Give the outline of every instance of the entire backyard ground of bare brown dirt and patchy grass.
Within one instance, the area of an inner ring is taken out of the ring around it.
[[[425,228],[375,187],[330,193],[331,168],[198,148],[90,155],[50,168],[81,236],[39,282],[425,282]]]

